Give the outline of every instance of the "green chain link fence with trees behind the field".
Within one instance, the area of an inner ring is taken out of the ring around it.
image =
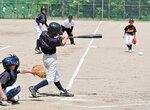
[[[121,2],[122,1],[122,2]],[[73,15],[75,18],[93,18],[93,19],[126,19],[136,18],[141,20],[150,20],[150,4],[137,0],[136,3],[131,0],[99,0],[88,4],[80,3],[10,3],[1,2],[0,18],[35,18],[40,13],[40,7],[47,7],[48,18]]]

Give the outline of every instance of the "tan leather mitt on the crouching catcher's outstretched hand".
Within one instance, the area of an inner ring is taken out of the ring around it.
[[[32,74],[37,75],[40,78],[46,78],[46,68],[44,65],[35,65],[32,67]]]

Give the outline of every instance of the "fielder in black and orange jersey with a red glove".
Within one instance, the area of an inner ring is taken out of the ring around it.
[[[133,24],[134,24],[134,20],[129,19],[129,25],[127,25],[124,28],[125,32],[123,36],[123,38],[125,37],[125,43],[130,53],[132,52],[133,39],[135,38],[136,35],[136,27]]]

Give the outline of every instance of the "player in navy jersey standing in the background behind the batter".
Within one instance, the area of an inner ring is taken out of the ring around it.
[[[43,25],[48,27],[47,18],[46,18],[46,7],[45,6],[41,7],[41,13],[36,18],[37,40],[36,40],[35,51],[37,54],[41,53],[40,46],[39,46],[39,38],[40,38],[40,35],[43,31]]]

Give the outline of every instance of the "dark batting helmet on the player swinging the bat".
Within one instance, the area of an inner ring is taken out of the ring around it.
[[[62,28],[59,23],[56,22],[51,22],[48,26],[48,34],[50,36],[57,36],[57,35],[62,35]]]

